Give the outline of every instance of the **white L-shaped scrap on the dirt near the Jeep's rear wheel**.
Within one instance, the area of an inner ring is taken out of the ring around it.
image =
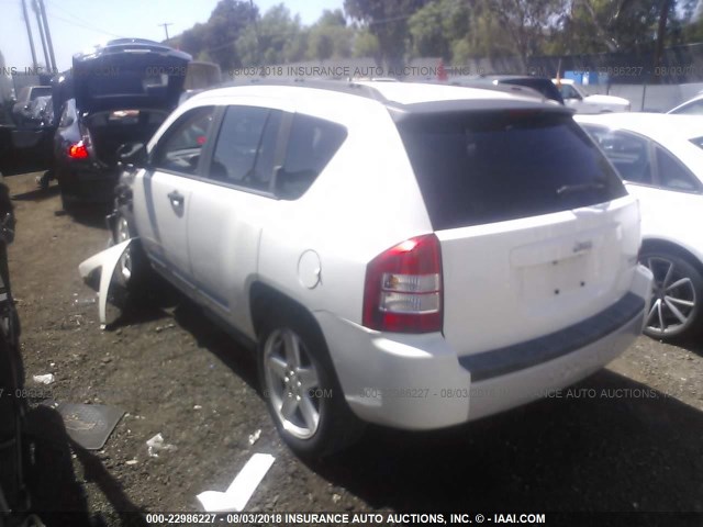
[[[270,453],[255,453],[226,492],[205,491],[196,497],[207,513],[239,513],[246,507],[275,459]]]

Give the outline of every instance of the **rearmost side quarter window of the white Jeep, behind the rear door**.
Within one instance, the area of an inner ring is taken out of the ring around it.
[[[276,178],[278,195],[288,200],[300,198],[320,176],[346,136],[346,128],[339,124],[295,114],[286,160]]]

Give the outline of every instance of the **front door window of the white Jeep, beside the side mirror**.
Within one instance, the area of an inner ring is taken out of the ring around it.
[[[197,175],[202,148],[210,137],[213,114],[212,106],[201,106],[181,115],[157,145],[155,168]]]

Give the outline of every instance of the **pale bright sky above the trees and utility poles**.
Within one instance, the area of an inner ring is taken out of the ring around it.
[[[32,22],[36,59],[44,65],[44,52],[36,15],[26,0]],[[259,11],[281,0],[254,0]],[[292,0],[286,7],[300,14],[305,25],[314,23],[325,9],[342,9],[343,0]],[[197,22],[205,22],[217,0],[44,0],[59,70],[68,69],[75,53],[116,37],[165,38],[164,27],[170,23],[169,36],[182,33]],[[5,67],[24,69],[32,66],[32,53],[22,15],[21,0],[0,0],[0,53]]]

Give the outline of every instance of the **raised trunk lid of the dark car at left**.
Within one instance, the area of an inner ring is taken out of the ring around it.
[[[170,111],[178,104],[190,60],[187,53],[136,38],[75,55],[70,75],[78,111]]]

